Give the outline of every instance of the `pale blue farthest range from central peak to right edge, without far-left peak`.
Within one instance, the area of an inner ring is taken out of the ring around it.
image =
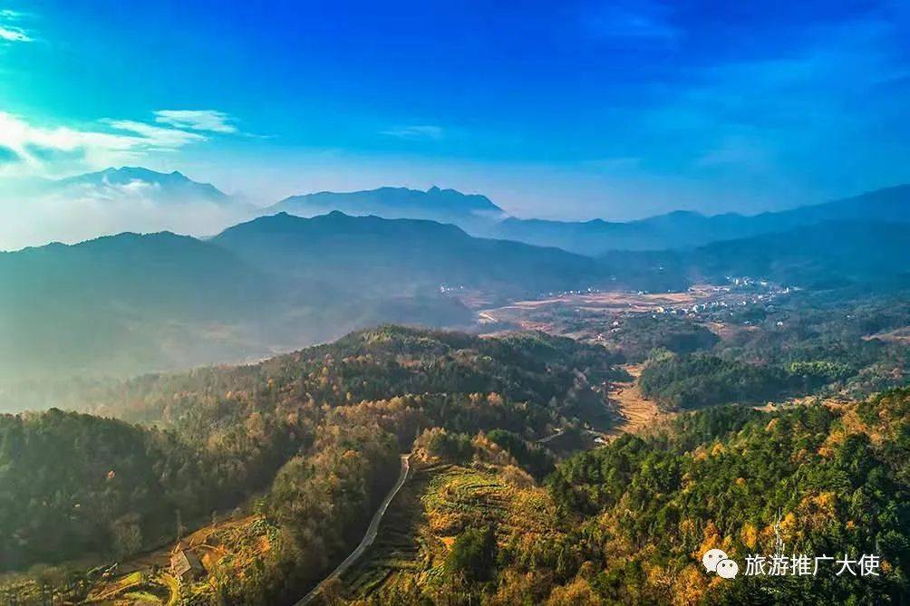
[[[349,215],[424,218],[452,223],[473,236],[559,247],[581,255],[612,250],[664,250],[699,247],[710,242],[757,236],[824,221],[862,220],[910,223],[910,186],[880,189],[814,206],[745,216],[736,213],[704,216],[691,211],[636,221],[550,221],[509,217],[486,197],[453,189],[428,191],[381,187],[336,194],[321,192],[288,197],[270,210],[311,217],[332,210]]]

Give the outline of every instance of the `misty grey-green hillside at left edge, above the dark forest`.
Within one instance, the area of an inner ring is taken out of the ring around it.
[[[0,253],[0,378],[132,373],[262,353],[235,330],[273,284],[169,233]]]

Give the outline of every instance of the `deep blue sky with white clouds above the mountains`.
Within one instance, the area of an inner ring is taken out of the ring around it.
[[[910,181],[905,2],[0,2],[0,179],[757,212]]]

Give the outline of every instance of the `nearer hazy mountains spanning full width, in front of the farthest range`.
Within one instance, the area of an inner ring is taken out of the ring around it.
[[[258,359],[380,322],[468,325],[451,296],[684,288],[727,276],[910,285],[905,225],[837,221],[600,258],[415,219],[259,217],[199,240],[120,234],[0,253],[0,379]],[[440,292],[444,290],[446,292]]]

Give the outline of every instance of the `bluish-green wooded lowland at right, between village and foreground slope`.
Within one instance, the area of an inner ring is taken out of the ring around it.
[[[908,348],[894,331],[908,322],[903,296],[797,292],[697,318],[622,318],[605,344],[644,363],[642,393],[669,409],[808,394],[850,399],[905,384]],[[718,326],[723,339],[707,328]]]

